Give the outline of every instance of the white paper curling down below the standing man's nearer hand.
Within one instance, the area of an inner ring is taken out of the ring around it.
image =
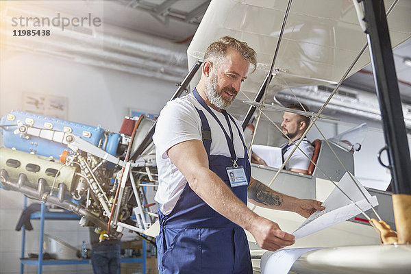
[[[280,249],[278,251],[266,251],[261,256],[262,274],[286,274],[290,271],[292,264],[308,251],[321,249],[321,247]]]

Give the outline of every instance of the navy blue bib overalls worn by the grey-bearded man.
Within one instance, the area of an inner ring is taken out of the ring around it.
[[[208,105],[201,99],[197,90],[193,91],[197,101],[203,105],[223,129],[232,158],[236,160],[233,138],[229,138]],[[196,108],[197,109],[197,108]],[[247,186],[231,187],[226,168],[233,166],[233,159],[223,155],[210,155],[211,134],[206,116],[197,109],[201,118],[203,144],[208,155],[210,170],[214,171],[227,184],[232,192],[247,203]],[[232,116],[223,110],[227,123]],[[230,123],[229,134],[233,136]],[[236,123],[234,123],[236,125]],[[237,127],[237,125],[236,125]],[[240,129],[237,127],[243,145]],[[234,154],[233,154],[234,153]],[[238,166],[243,166],[249,182],[251,168],[245,147],[244,158],[237,158]],[[210,191],[212,191],[210,189]],[[156,237],[159,273],[252,273],[251,256],[244,229],[232,223],[210,208],[188,184],[184,187],[177,204],[164,215],[158,210],[160,234]]]

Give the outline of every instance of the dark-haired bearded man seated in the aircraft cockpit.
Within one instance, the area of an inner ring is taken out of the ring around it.
[[[287,108],[307,112],[309,111],[306,105],[300,105],[299,103],[288,105]],[[281,146],[283,161],[288,158],[292,149],[294,149],[301,136],[303,136],[303,133],[306,131],[308,125],[310,125],[310,117],[291,112],[284,112],[281,127],[284,137],[287,136],[289,140]],[[308,166],[310,166],[310,159],[312,158],[313,153],[314,146],[311,145],[310,141],[308,141],[306,137],[304,137],[299,145],[299,149],[296,149],[294,153],[292,153],[285,169],[288,171],[307,174]]]

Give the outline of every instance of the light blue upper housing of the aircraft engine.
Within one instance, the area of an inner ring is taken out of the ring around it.
[[[20,122],[39,129],[51,129],[80,136],[96,147],[105,147],[105,151],[112,155],[116,155],[119,140],[121,139],[119,134],[106,132],[100,126],[92,127],[30,112],[12,111],[1,118],[0,125],[2,126],[1,132],[5,147],[16,148],[19,151],[46,157],[52,156],[55,159],[60,159],[62,151],[71,151],[71,149],[60,142],[53,142],[36,136],[14,134],[14,131],[18,129],[17,123]]]

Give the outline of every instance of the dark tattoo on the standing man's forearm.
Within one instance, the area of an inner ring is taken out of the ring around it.
[[[250,199],[265,206],[281,206],[283,203],[282,195],[275,192],[268,186],[258,180],[253,180],[248,186],[248,195]]]

